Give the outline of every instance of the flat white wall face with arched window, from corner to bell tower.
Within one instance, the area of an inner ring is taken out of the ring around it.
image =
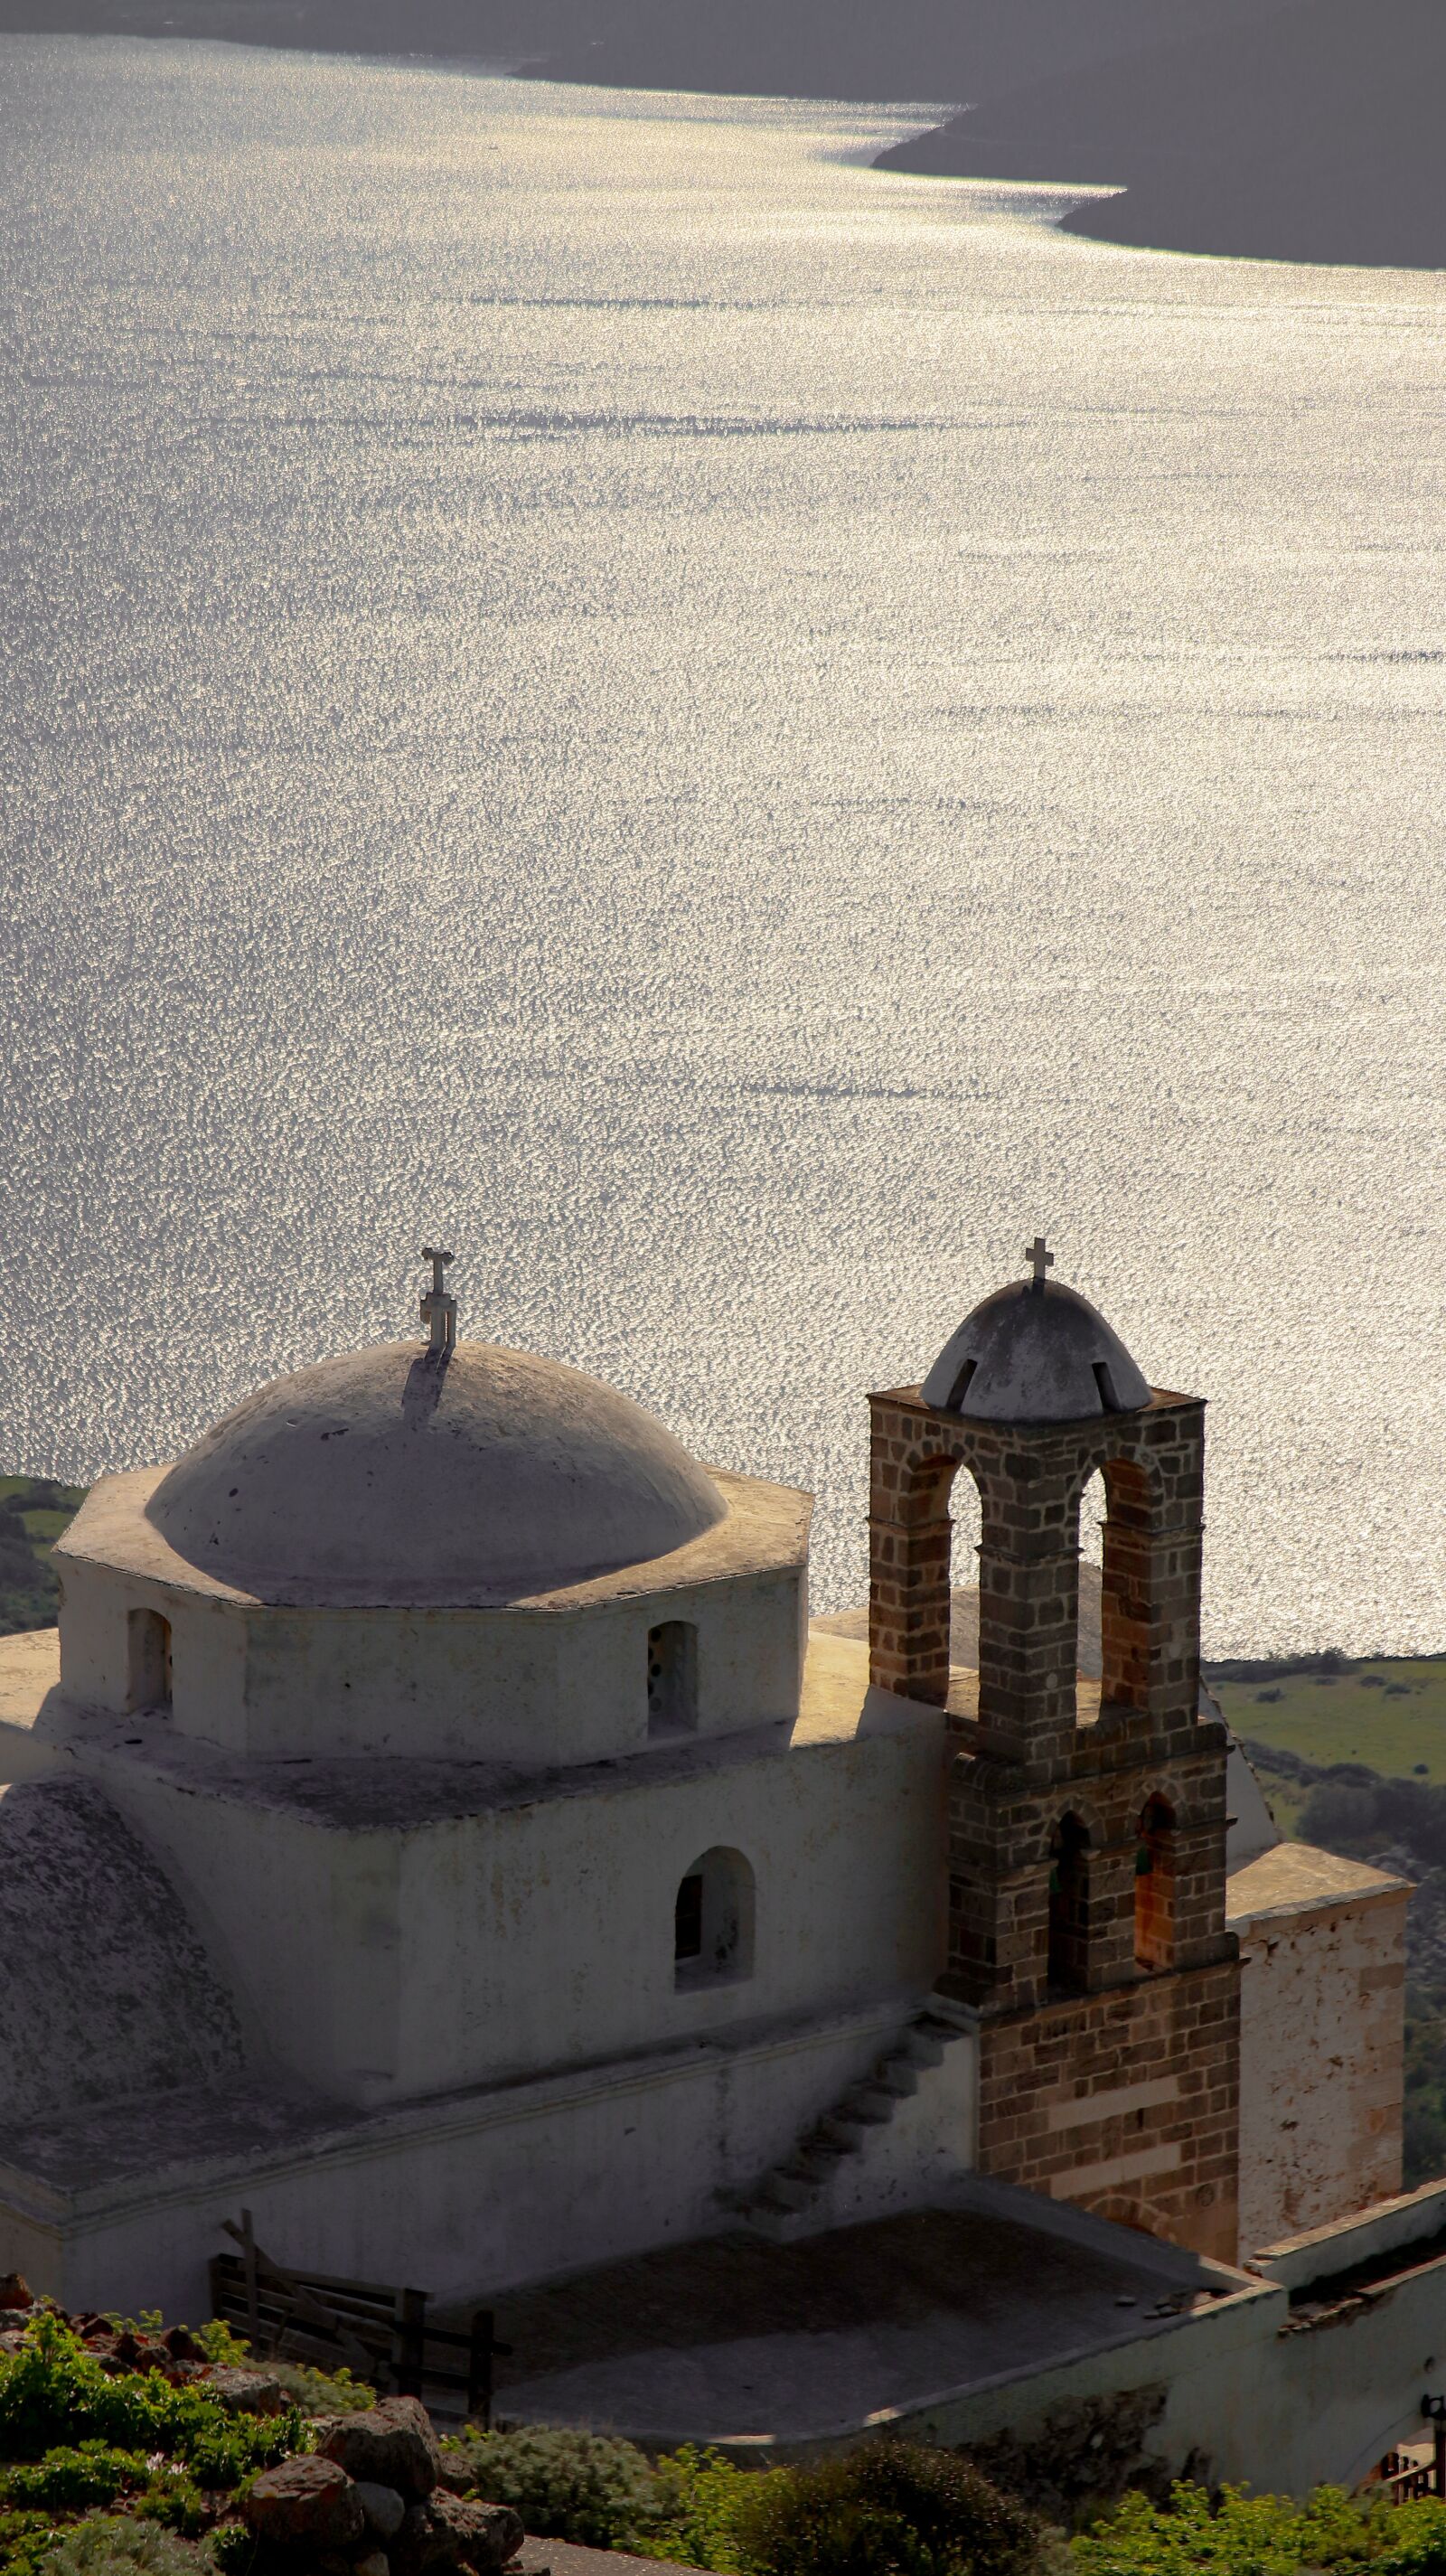
[[[714,1847],[753,1873],[753,1965],[678,1984],[678,1886]],[[923,1994],[943,1901],[936,1726],[438,1826],[405,1852],[400,2089]]]

